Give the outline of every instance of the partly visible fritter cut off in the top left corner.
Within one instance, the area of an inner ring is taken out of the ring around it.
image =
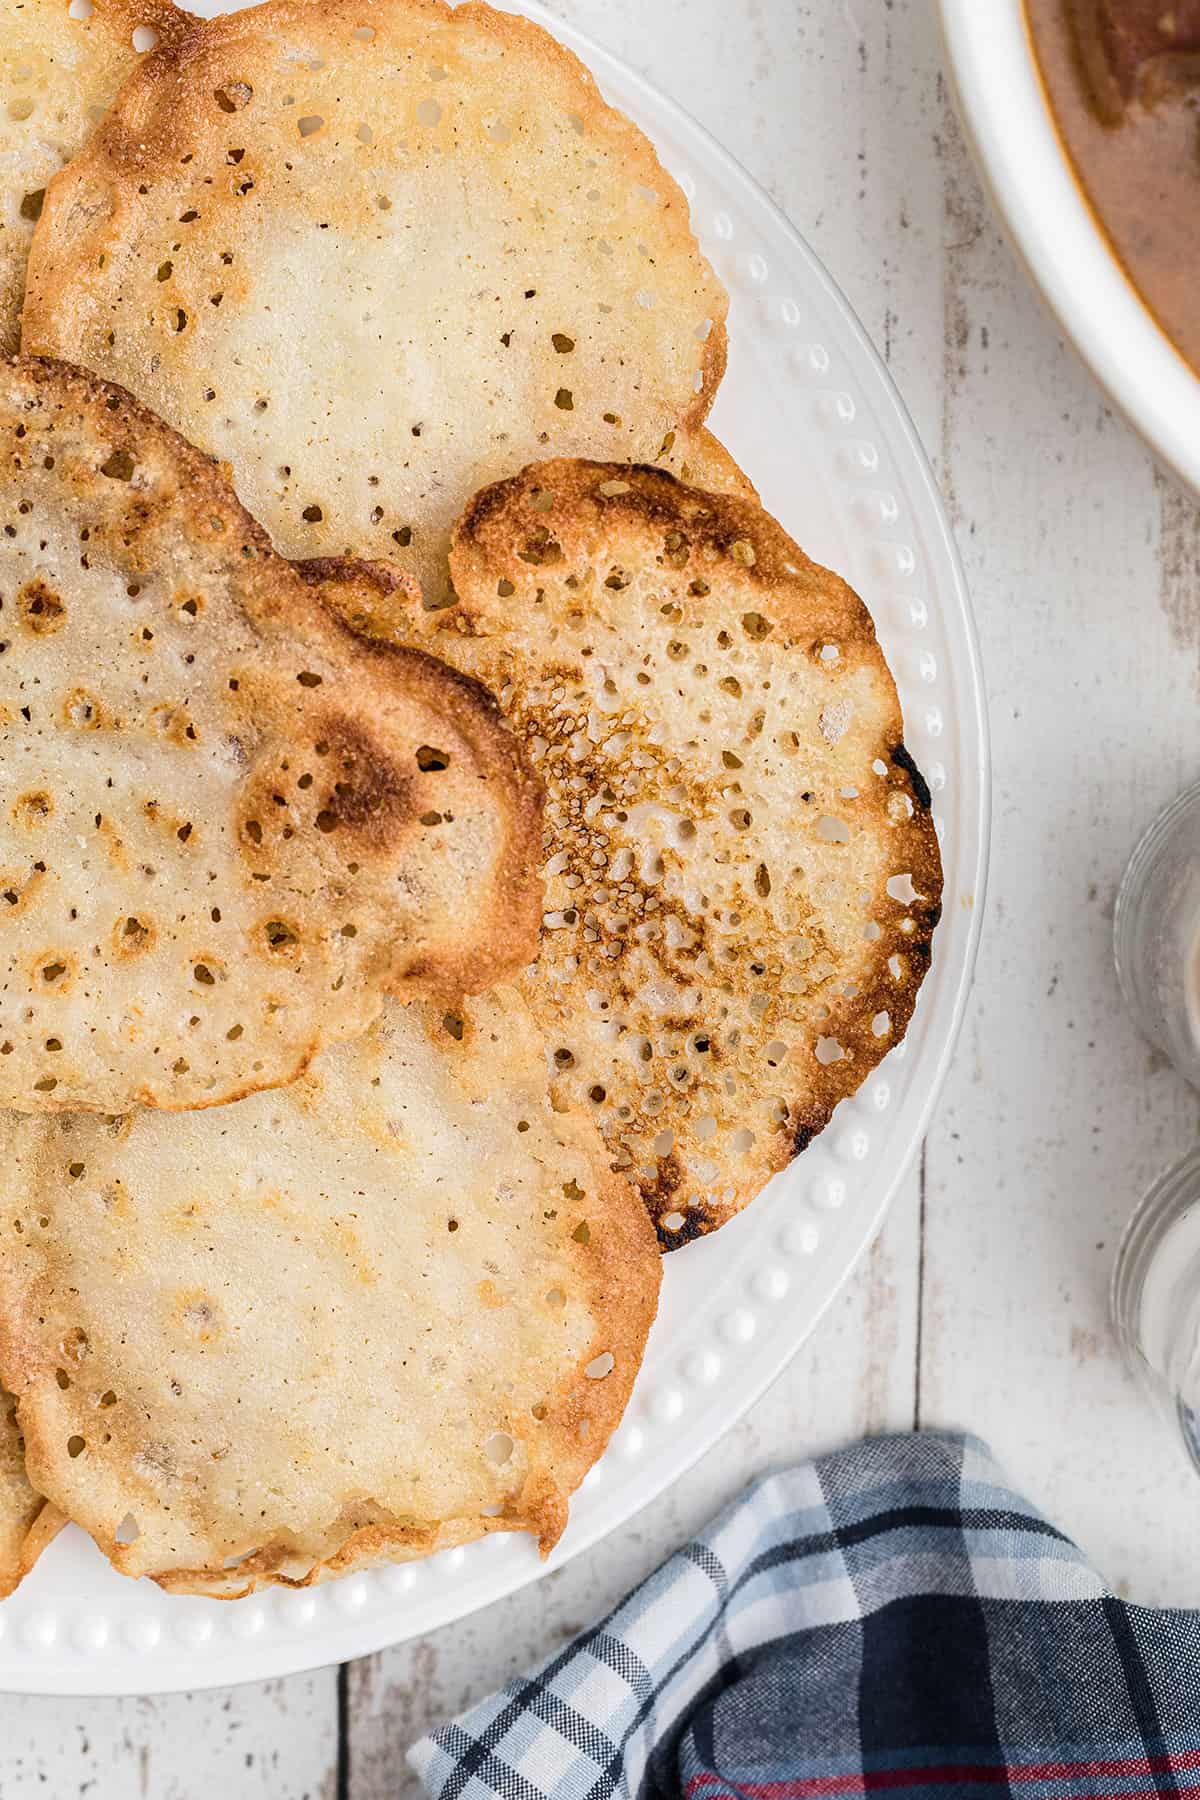
[[[25,259],[47,184],[83,149],[139,56],[185,23],[187,14],[169,0],[74,0],[74,5],[72,0],[5,0],[0,20],[0,355],[13,355],[20,344]]]

